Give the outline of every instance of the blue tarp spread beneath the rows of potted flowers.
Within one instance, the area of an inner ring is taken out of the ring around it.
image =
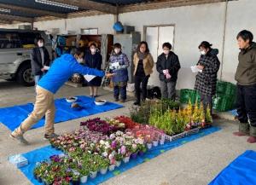
[[[129,169],[142,164],[143,162],[148,161],[149,159],[153,159],[160,155],[160,153],[165,153],[168,150],[171,150],[175,147],[179,147],[187,142],[192,142],[196,139],[201,138],[202,136],[207,136],[212,134],[213,132],[216,132],[220,130],[218,127],[211,127],[206,130],[201,130],[199,133],[187,136],[182,139],[178,139],[177,141],[173,142],[166,142],[164,145],[153,147],[150,150],[148,150],[147,153],[145,153],[142,157],[137,157],[137,159],[131,159],[131,161],[127,164],[122,163],[122,165],[119,166],[115,171],[108,171],[106,175],[98,175],[95,179],[89,179],[88,182],[86,182],[86,185],[95,185],[102,182],[107,181],[109,178],[112,178],[113,176],[117,176],[120,173],[124,171],[128,171]],[[24,173],[24,175],[33,183],[36,185],[39,185],[38,181],[34,179],[33,177],[33,169],[38,161],[42,161],[44,159],[49,159],[49,156],[54,154],[59,154],[60,151],[55,150],[54,148],[48,146],[48,147],[42,147],[37,150],[33,150],[32,152],[23,154],[26,159],[28,159],[29,165],[26,165],[25,167],[20,168],[20,171]]]

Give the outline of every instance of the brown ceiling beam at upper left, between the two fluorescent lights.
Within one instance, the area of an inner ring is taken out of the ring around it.
[[[64,19],[67,18],[67,14],[59,14],[59,13],[46,11],[46,10],[42,10],[42,9],[25,8],[25,7],[15,6],[15,5],[11,5],[11,4],[0,3],[0,8],[1,9],[11,9],[11,10],[26,12],[26,13],[31,13],[31,14],[50,15],[50,16],[64,18]]]

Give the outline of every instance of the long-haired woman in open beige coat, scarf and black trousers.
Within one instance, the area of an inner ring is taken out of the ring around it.
[[[148,78],[153,72],[154,61],[152,55],[149,53],[148,43],[141,42],[137,47],[137,52],[133,57],[134,63],[134,76],[135,76],[135,94],[137,101],[134,105],[140,106],[141,104],[141,84],[142,84],[142,101],[147,97]]]

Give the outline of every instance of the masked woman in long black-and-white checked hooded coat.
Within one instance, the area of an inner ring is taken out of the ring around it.
[[[196,75],[195,90],[201,95],[201,102],[205,111],[207,106],[212,112],[212,96],[216,94],[217,74],[220,62],[218,61],[218,49],[212,49],[212,44],[203,41],[199,45],[201,57],[197,63],[197,68],[201,70]]]

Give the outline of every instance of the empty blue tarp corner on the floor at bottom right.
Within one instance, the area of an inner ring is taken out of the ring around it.
[[[255,185],[256,152],[247,150],[221,171],[209,185]]]

